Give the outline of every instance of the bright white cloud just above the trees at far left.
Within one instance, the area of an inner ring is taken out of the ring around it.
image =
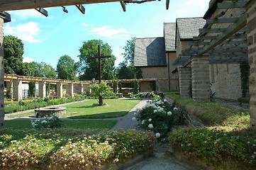
[[[28,42],[40,42],[40,40],[35,39],[35,36],[38,35],[40,28],[38,23],[29,22],[24,23],[16,27],[10,26],[9,23],[4,26],[4,33],[9,35],[14,35],[20,38],[23,41]]]

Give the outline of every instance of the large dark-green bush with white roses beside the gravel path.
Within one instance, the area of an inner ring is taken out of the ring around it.
[[[172,128],[184,124],[184,110],[173,106],[160,96],[151,97],[135,116],[140,126],[154,132],[158,140],[167,140]]]

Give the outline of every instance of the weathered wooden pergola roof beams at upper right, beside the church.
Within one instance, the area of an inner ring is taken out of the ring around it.
[[[209,64],[235,64],[246,62],[247,13],[249,0],[211,0],[204,16],[206,24],[199,29],[174,65],[187,66],[192,57],[209,57]]]

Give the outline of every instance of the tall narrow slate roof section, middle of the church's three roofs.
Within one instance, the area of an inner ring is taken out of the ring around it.
[[[176,51],[176,23],[164,23],[165,51]]]

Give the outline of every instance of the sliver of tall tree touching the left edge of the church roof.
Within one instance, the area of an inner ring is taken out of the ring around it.
[[[133,65],[134,63],[135,40],[136,38],[131,38],[130,40],[127,40],[126,46],[123,47],[125,52],[123,52],[122,55],[124,57],[124,63],[126,64],[126,66]]]

